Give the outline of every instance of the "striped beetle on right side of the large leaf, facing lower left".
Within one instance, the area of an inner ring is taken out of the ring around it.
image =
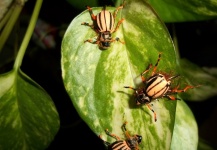
[[[142,82],[145,84],[145,87],[140,87],[136,89],[131,86],[124,86],[124,88],[130,88],[135,91],[137,105],[146,104],[148,106],[148,108],[154,113],[155,122],[157,121],[157,117],[155,111],[150,105],[152,100],[163,97],[167,97],[170,100],[180,100],[173,95],[197,87],[187,85],[184,89],[178,89],[178,85],[172,88],[172,80],[179,77],[179,75],[171,76],[166,73],[156,73],[160,58],[161,53],[159,53],[158,60],[153,68],[151,76],[148,79],[145,79],[144,75],[152,68],[152,64],[149,64],[146,70],[140,74],[140,77],[142,79]]]

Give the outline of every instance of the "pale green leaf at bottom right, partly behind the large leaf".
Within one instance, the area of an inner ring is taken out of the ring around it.
[[[198,127],[194,115],[184,101],[178,101],[171,150],[197,149]]]

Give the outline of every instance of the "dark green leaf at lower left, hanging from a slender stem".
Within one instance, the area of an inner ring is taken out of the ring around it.
[[[49,95],[21,70],[0,75],[0,149],[42,150],[59,129]]]

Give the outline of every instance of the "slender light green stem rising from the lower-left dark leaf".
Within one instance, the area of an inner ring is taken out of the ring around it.
[[[24,54],[26,52],[26,48],[29,44],[30,38],[31,38],[32,33],[34,31],[34,28],[35,28],[36,21],[38,19],[38,14],[39,14],[39,11],[41,8],[42,1],[43,0],[37,0],[36,1],[35,8],[33,10],[33,14],[32,14],[32,17],[30,19],[29,26],[27,28],[26,34],[25,34],[24,39],[21,43],[20,49],[19,49],[18,54],[17,54],[17,58],[16,58],[15,63],[14,63],[14,69],[16,71],[20,68],[20,66],[22,64],[22,60],[23,60]]]

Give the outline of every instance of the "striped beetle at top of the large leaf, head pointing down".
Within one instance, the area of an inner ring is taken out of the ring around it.
[[[116,15],[118,11],[122,9],[123,7],[124,7],[124,3],[123,5],[117,7],[113,14],[107,11],[106,7],[103,7],[102,11],[95,16],[93,14],[92,9],[89,6],[87,6],[87,9],[89,10],[91,18],[93,20],[93,24],[90,25],[87,22],[83,22],[81,25],[86,25],[94,29],[95,32],[98,34],[98,37],[96,41],[88,39],[84,42],[98,44],[99,48],[102,50],[108,49],[110,47],[111,42],[114,42],[114,41],[121,42],[118,37],[116,37],[115,39],[112,39],[111,34],[117,31],[121,23],[124,21],[124,19],[122,18],[117,23],[116,27],[114,27]],[[124,42],[121,42],[121,43],[124,44]]]

